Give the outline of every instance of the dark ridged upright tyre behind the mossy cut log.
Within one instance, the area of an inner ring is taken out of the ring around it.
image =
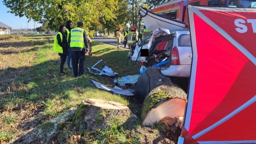
[[[136,85],[136,98],[138,103],[143,103],[147,94],[150,91],[149,85],[150,79],[147,75],[146,71],[141,74],[138,78],[137,85]]]

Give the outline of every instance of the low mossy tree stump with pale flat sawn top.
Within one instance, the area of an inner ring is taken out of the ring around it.
[[[132,115],[129,107],[122,103],[99,99],[86,99],[78,107],[73,121],[83,130],[97,130],[109,127],[113,119],[126,121]]]

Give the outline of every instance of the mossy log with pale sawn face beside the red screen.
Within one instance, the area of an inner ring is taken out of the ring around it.
[[[161,85],[146,96],[142,105],[142,125],[153,125],[162,119],[169,119],[172,124],[185,112],[187,94],[178,86]]]

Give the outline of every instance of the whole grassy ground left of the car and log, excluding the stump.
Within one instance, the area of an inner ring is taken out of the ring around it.
[[[0,40],[0,63],[4,63],[0,66],[0,143],[172,143],[161,125],[141,126],[141,106],[133,97],[99,90],[91,82],[93,79],[114,87],[113,78],[89,73],[74,78],[67,68],[66,75],[59,76],[59,55],[52,51],[53,39],[53,35],[15,35]],[[140,63],[124,59],[127,50],[94,41],[92,53],[92,58],[86,55],[86,67],[102,59],[118,72],[116,78],[139,74]],[[122,103],[138,119],[126,121],[129,126],[110,122],[114,125],[109,129],[97,131],[85,131],[86,125],[73,122],[74,115],[61,119],[70,108],[78,108],[81,101],[90,98]],[[82,142],[75,139],[78,137]]]

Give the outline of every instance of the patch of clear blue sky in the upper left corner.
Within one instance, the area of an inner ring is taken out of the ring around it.
[[[14,14],[7,12],[9,10],[10,9],[7,8],[0,0],[0,22],[3,22],[5,25],[12,27],[12,29],[33,29],[34,27],[37,28],[42,26],[41,23],[37,22],[34,25],[34,21],[30,21],[27,23],[26,17],[20,18],[19,16],[15,16]]]

